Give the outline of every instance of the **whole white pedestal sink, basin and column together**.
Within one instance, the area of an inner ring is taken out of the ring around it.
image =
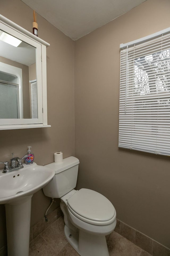
[[[31,198],[54,176],[36,163],[10,173],[0,171],[0,204],[5,204],[8,256],[29,255]]]

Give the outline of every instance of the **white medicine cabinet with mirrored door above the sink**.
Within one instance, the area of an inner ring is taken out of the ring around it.
[[[47,124],[49,43],[0,15],[0,130]]]

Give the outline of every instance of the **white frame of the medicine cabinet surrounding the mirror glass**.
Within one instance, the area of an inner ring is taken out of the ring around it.
[[[36,47],[38,118],[0,119],[0,130],[50,127],[47,124],[46,47],[49,43],[0,14],[0,30]]]

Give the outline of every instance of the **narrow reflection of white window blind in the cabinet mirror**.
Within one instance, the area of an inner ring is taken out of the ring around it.
[[[30,81],[31,118],[38,118],[37,80]]]

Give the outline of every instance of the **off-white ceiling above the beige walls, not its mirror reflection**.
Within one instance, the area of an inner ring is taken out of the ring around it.
[[[75,41],[146,0],[22,1]]]

